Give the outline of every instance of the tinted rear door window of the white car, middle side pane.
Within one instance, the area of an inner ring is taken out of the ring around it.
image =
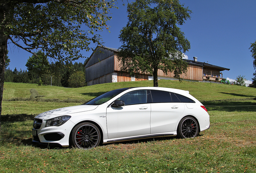
[[[169,103],[171,102],[170,93],[167,91],[151,90],[153,103]]]

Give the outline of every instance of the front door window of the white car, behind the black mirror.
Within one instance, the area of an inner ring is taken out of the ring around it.
[[[125,105],[134,105],[140,103],[147,103],[147,91],[132,91],[120,97],[118,100],[124,101]]]

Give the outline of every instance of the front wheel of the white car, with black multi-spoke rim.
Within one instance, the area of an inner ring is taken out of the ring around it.
[[[97,147],[101,141],[99,128],[93,123],[80,123],[70,133],[70,143],[81,149]]]

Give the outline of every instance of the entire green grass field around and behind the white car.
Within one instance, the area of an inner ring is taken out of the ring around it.
[[[209,111],[211,128],[194,139],[154,138],[100,145],[87,151],[31,142],[33,117],[38,113],[80,105],[113,89],[142,86],[153,86],[153,81],[99,84],[77,89],[6,82],[2,102],[0,172],[256,172],[256,89],[235,85],[159,80],[159,87],[190,91]],[[35,89],[40,97],[29,99],[31,89]]]

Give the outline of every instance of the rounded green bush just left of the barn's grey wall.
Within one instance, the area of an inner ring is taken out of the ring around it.
[[[85,73],[82,71],[71,74],[68,80],[69,86],[72,88],[85,87]]]

